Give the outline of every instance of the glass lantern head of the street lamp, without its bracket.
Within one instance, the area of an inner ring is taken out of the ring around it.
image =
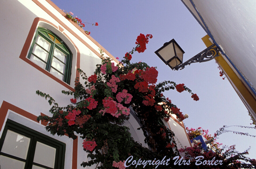
[[[156,50],[156,55],[164,61],[164,63],[174,69],[175,66],[183,62],[183,54],[185,53],[178,43],[172,39],[170,42],[164,43],[159,50]]]

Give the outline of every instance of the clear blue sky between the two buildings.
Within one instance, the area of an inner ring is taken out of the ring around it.
[[[248,110],[236,94],[227,79],[220,77],[218,65],[214,60],[188,65],[183,70],[172,71],[154,53],[164,42],[172,38],[185,51],[184,61],[192,58],[206,47],[201,40],[206,32],[197,23],[180,0],[52,0],[60,9],[73,12],[83,22],[95,23],[95,27],[86,24],[92,38],[100,43],[114,57],[123,58],[126,52],[135,47],[140,33],[152,34],[144,53],[132,55],[132,62],[144,61],[156,66],[159,71],[158,82],[167,80],[177,84],[184,83],[200,100],[194,101],[188,92],[168,91],[164,95],[176,104],[180,111],[188,114],[184,120],[186,127],[202,127],[214,134],[223,125],[250,126],[252,120]],[[230,130],[248,132],[254,130],[230,128]],[[236,145],[240,152],[251,146],[249,156],[256,157],[256,138],[232,133],[220,135],[217,142],[224,145]]]

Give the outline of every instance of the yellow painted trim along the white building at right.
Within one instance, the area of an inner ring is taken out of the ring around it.
[[[209,40],[209,35],[206,35],[202,38],[204,44],[209,47],[212,45],[212,42]],[[241,94],[240,98],[243,101],[244,105],[246,108],[254,114],[254,117],[256,115],[256,99],[252,95],[252,93],[248,90],[248,88],[244,85],[243,81],[240,80],[240,78],[236,75],[234,70],[228,65],[227,61],[222,57],[222,55],[218,56],[215,58],[217,63],[221,66],[222,70],[224,71],[226,77],[228,78],[229,81],[232,81],[232,86],[234,89],[238,90],[236,91],[237,93],[239,92]],[[239,95],[239,94],[238,94]],[[249,108],[248,108],[249,107]],[[253,111],[253,112],[252,112]]]

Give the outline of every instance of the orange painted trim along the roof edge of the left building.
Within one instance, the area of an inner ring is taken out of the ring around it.
[[[80,38],[80,36],[78,36],[74,31],[72,31],[72,29],[70,29],[67,25],[65,25],[59,18],[57,18],[52,12],[50,12],[47,8],[44,7],[43,4],[41,4],[38,0],[32,0],[34,3],[36,3],[40,8],[42,8],[46,13],[48,13],[48,15],[50,15],[53,19],[55,19],[58,23],[60,23],[60,25],[62,25],[66,30],[68,30],[72,35],[74,35],[77,39],[80,40],[80,42],[82,42],[85,46],[87,46],[90,50],[92,50],[93,53],[95,53],[99,58],[101,58],[101,55],[99,54],[99,52],[97,52],[96,50],[94,50],[92,48],[92,46],[90,46],[87,42],[85,42],[82,38]],[[56,6],[56,4],[54,4],[51,0],[46,0],[50,5],[52,5],[53,8],[55,8],[58,12],[60,12],[61,15],[63,15],[64,17],[66,16],[66,13],[61,11],[59,7]],[[101,50],[103,50],[105,52],[105,54],[107,54],[110,58],[112,58],[114,61],[116,61],[117,63],[119,63],[119,61],[112,56],[112,54],[110,54],[106,49],[104,49],[104,47],[102,47],[96,40],[94,40],[90,35],[87,35],[85,33],[85,31],[83,30],[83,28],[81,28],[80,26],[78,26],[76,23],[74,23],[73,21],[71,21],[69,19],[70,23],[72,23],[80,32],[82,32],[87,38],[89,38],[96,46],[98,46]]]

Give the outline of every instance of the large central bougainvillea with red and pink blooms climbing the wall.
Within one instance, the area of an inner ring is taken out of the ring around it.
[[[124,54],[119,64],[110,58],[104,58],[101,51],[102,63],[96,65],[93,75],[87,77],[78,69],[84,81],[76,79],[75,92],[62,91],[71,95],[71,104],[65,107],[59,105],[51,96],[37,91],[40,96],[54,104],[50,109],[52,117],[39,116],[38,121],[48,122],[46,130],[52,134],[67,134],[76,139],[81,134],[84,139],[81,148],[88,152],[90,161],[82,166],[96,165],[99,169],[124,169],[124,161],[133,156],[133,160],[162,160],[176,157],[179,151],[176,147],[174,134],[165,127],[163,120],[168,121],[170,114],[176,114],[184,119],[183,113],[162,92],[170,89],[178,92],[188,91],[193,100],[198,96],[184,84],[172,81],[157,82],[158,71],[144,62],[131,63],[132,54],[136,51],[144,52],[146,44],[152,35],[140,34],[136,39],[136,47]],[[133,109],[140,121],[145,142],[150,147],[143,147],[135,142],[129,133],[129,128],[122,126],[124,119]],[[186,168],[188,166],[159,165],[158,168]],[[130,165],[129,168],[143,168],[143,165]],[[147,165],[148,169],[156,168]]]

